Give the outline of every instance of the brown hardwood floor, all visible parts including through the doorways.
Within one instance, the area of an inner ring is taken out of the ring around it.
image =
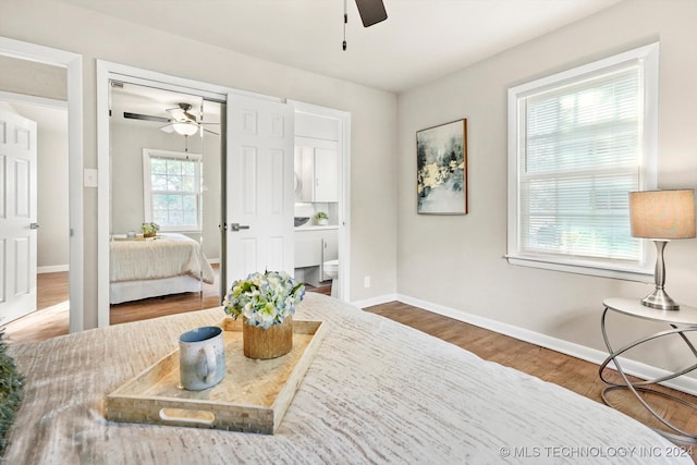
[[[8,325],[5,336],[10,343],[40,341],[68,333],[68,310],[64,305],[61,307],[61,303],[68,299],[68,273],[50,273],[39,277],[38,302],[39,308],[42,308],[42,310]],[[329,294],[330,290],[330,286],[308,287],[309,292],[323,294]],[[188,293],[114,305],[111,310],[111,323],[118,325],[138,319],[209,308],[217,305],[219,305],[218,284],[213,283],[212,285],[206,285],[201,295]],[[596,402],[602,402],[600,392],[606,384],[598,378],[598,366],[592,363],[398,302],[368,307],[365,310],[384,316],[458,345],[487,360],[518,369],[564,387]],[[616,376],[612,379],[615,378],[619,379]],[[676,395],[684,402],[697,405],[697,397],[695,396],[668,388],[661,387],[658,389]],[[656,419],[645,413],[645,409],[631,397],[631,394],[619,391],[613,393],[611,399],[617,408],[627,415],[656,428],[662,427]],[[697,433],[697,415],[695,415],[694,409],[656,395],[652,395],[649,402],[674,425],[693,435]],[[697,449],[694,445],[693,448]]]

